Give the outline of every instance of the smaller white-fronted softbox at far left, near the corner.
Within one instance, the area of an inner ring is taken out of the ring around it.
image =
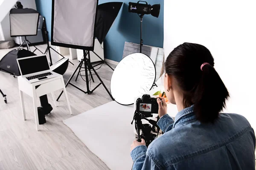
[[[37,35],[39,13],[31,8],[12,8],[10,11],[11,37]]]

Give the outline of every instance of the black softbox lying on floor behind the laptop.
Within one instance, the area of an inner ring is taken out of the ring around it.
[[[30,56],[35,56],[35,54],[25,49],[14,49],[0,60],[0,70],[6,71],[15,76],[20,76],[16,59]]]

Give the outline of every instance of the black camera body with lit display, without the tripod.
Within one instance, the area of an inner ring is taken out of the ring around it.
[[[151,98],[150,95],[144,94],[136,101],[137,113],[149,115],[152,113],[158,114],[158,103],[156,98]]]

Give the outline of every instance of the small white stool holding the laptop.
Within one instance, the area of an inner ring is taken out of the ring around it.
[[[25,113],[25,108],[24,108],[23,92],[33,98],[36,130],[39,130],[38,129],[38,125],[39,125],[38,110],[37,110],[37,101],[36,101],[37,97],[51,93],[53,101],[54,101],[54,105],[56,106],[53,92],[63,89],[66,100],[67,100],[67,106],[69,108],[70,114],[72,114],[72,111],[70,108],[70,102],[67,97],[67,91],[65,88],[65,83],[64,83],[62,75],[59,74],[58,77],[41,80],[39,82],[34,82],[34,83],[29,83],[28,81],[26,81],[26,78],[19,76],[18,77],[18,85],[19,85],[20,101],[21,101],[21,108],[22,108],[24,120],[26,120],[26,113]]]

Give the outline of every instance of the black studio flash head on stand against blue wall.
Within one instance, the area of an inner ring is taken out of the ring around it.
[[[128,11],[137,14],[151,14],[154,17],[159,16],[160,4],[150,5],[146,1],[138,1],[137,3],[129,2]]]

